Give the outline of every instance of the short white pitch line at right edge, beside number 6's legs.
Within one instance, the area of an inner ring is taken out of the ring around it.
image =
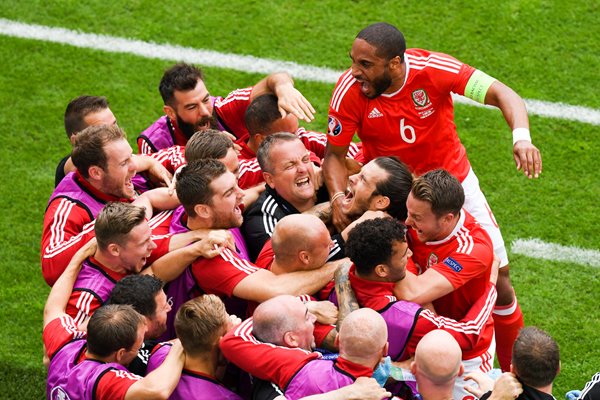
[[[514,254],[531,258],[600,267],[600,251],[598,250],[546,243],[540,239],[517,239],[512,242],[511,250]]]

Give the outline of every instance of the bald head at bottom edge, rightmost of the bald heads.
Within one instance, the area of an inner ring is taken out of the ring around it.
[[[421,339],[410,369],[423,400],[456,398],[454,381],[464,371],[461,359],[460,346],[448,332],[431,331]]]

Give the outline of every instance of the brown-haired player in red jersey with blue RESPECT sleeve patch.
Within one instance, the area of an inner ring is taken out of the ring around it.
[[[440,315],[461,319],[485,291],[494,259],[487,232],[465,211],[463,188],[445,170],[415,179],[406,201],[414,264],[398,282],[398,298],[433,302]]]

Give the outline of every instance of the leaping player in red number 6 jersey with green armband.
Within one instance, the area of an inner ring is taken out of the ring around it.
[[[523,99],[449,55],[406,49],[402,32],[383,22],[358,33],[350,58],[352,66],[339,78],[329,104],[323,176],[331,197],[346,189],[344,157],[355,133],[362,140],[366,162],[395,155],[415,175],[443,168],[459,179],[466,193],[465,209],[484,226],[501,259],[496,337],[500,365],[507,370],[512,342],[523,326],[522,314],[510,283],[502,234],[456,132],[451,94],[500,108],[513,131],[517,169],[537,178],[542,158],[531,143]],[[350,220],[341,212],[340,202],[333,203],[333,221],[343,229]]]

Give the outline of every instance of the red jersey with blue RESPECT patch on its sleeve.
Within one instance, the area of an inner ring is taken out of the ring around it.
[[[406,235],[414,262],[407,268],[417,275],[434,268],[448,279],[454,291],[433,305],[440,315],[462,319],[490,280],[494,246],[489,235],[465,210],[454,231],[442,240],[422,243],[412,229]]]

